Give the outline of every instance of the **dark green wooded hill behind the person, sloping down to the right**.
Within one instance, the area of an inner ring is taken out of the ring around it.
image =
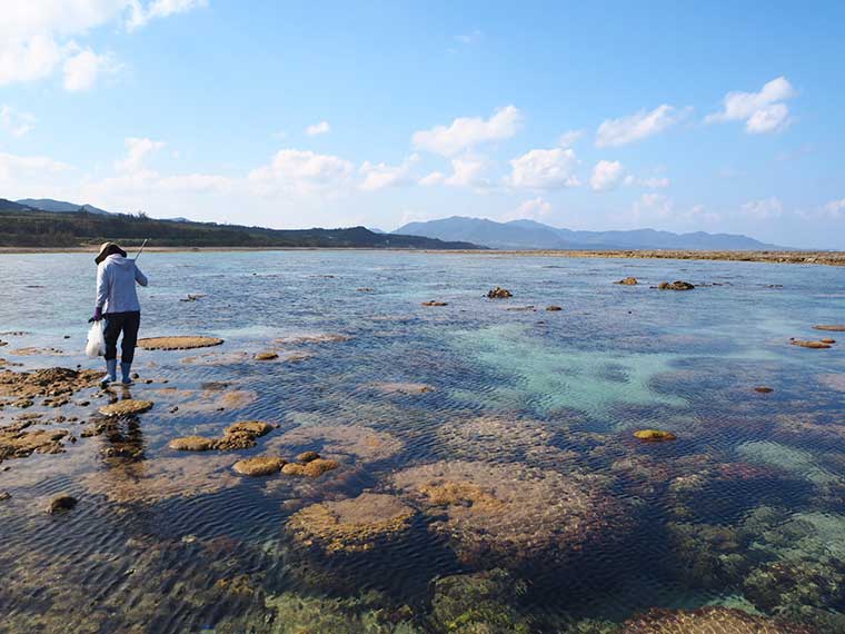
[[[475,249],[469,242],[347,229],[266,229],[88,211],[41,211],[0,199],[0,247],[68,248],[113,240],[160,247]]]

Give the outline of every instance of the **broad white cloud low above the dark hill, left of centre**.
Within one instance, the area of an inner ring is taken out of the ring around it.
[[[249,172],[248,178],[261,194],[331,194],[349,185],[354,171],[351,162],[336,156],[285,149],[276,152],[269,165]]]

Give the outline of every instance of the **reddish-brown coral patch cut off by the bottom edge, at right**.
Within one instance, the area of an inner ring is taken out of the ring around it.
[[[732,607],[653,608],[625,622],[624,634],[817,634],[808,625],[781,622]],[[821,633],[818,633],[821,634]]]

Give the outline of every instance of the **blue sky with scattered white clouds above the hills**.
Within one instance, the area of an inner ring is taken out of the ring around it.
[[[844,2],[0,0],[0,198],[845,249]]]

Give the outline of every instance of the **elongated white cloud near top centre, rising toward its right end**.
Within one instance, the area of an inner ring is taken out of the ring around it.
[[[497,109],[489,119],[460,117],[448,128],[436,126],[414,132],[411,142],[416,149],[448,157],[484,142],[509,139],[516,135],[520,121],[519,110],[507,106]]]

